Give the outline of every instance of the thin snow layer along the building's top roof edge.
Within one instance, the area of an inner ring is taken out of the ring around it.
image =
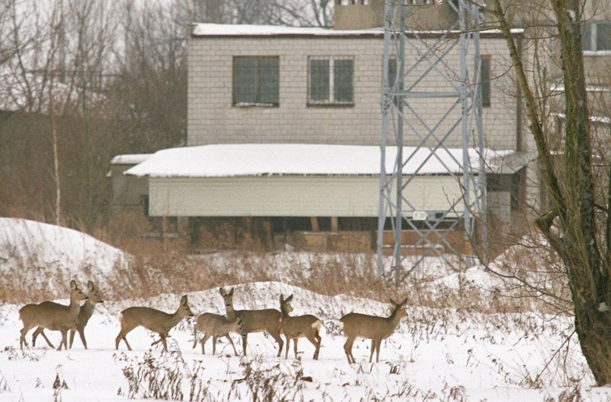
[[[420,34],[447,34],[448,31],[414,31]],[[456,31],[458,32],[458,31]],[[513,34],[520,34],[524,29],[511,29]],[[500,34],[498,29],[480,31],[480,34]],[[332,29],[323,27],[277,26],[255,24],[194,24],[192,36],[276,36],[276,35],[306,35],[306,36],[353,36],[353,35],[383,35],[384,28],[368,29]]]

